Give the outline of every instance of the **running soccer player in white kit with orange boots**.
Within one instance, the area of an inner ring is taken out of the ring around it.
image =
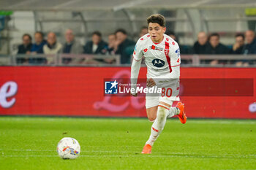
[[[143,147],[143,154],[150,154],[151,147],[165,127],[168,117],[178,115],[181,123],[186,123],[184,104],[178,102],[171,107],[173,101],[179,101],[179,77],[181,57],[177,42],[165,34],[165,18],[155,14],[147,18],[148,34],[140,37],[135,46],[131,67],[132,88],[136,88],[140,63],[143,56],[147,66],[147,88],[155,85],[162,88],[159,96],[146,94],[146,112],[148,120],[154,122],[151,126],[151,135]],[[137,93],[131,93],[137,96]]]

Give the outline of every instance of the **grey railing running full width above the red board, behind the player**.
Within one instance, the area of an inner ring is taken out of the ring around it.
[[[0,66],[130,66],[121,64],[120,58],[120,55],[86,54],[0,55]],[[237,67],[236,63],[243,62],[256,67],[256,55],[182,55],[181,61],[182,66]]]

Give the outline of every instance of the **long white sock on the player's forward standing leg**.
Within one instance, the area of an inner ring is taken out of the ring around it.
[[[146,144],[150,144],[151,146],[153,146],[154,142],[157,140],[157,137],[159,136],[159,134],[161,134],[162,130],[165,127],[166,118],[168,114],[169,110],[167,109],[167,107],[158,107],[157,118],[156,120],[154,120],[154,123],[151,126],[151,134]]]

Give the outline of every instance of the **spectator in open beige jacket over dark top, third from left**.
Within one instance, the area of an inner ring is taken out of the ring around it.
[[[49,32],[47,36],[47,44],[45,44],[42,49],[44,54],[46,55],[56,55],[61,52],[62,45],[57,42],[56,34],[53,32]],[[48,57],[47,62],[53,63],[53,57]]]

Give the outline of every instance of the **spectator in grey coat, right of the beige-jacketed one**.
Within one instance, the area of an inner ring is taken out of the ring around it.
[[[75,40],[75,35],[71,29],[67,29],[65,31],[65,39],[66,42],[64,43],[62,53],[64,54],[81,54],[83,53],[83,46],[80,42]],[[69,63],[73,61],[74,63],[79,61],[79,58],[62,58],[62,63]]]

